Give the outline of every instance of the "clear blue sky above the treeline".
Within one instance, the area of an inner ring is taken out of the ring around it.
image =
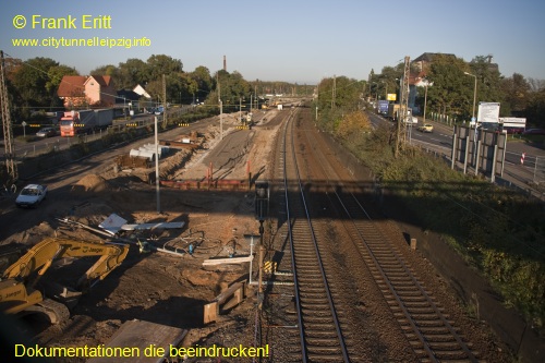
[[[16,15],[26,19],[24,28],[15,28]],[[71,15],[77,28],[33,28],[33,15]],[[110,16],[111,28],[82,29],[84,15]],[[300,84],[332,75],[366,80],[372,69],[380,73],[423,52],[453,53],[465,61],[493,55],[504,76],[517,72],[545,80],[544,16],[545,2],[535,0],[3,0],[0,49],[23,60],[52,58],[81,74],[152,55],[180,59],[186,72],[204,65],[214,73],[226,56],[227,70],[245,80]],[[150,46],[12,45],[16,38],[50,37],[146,37]]]

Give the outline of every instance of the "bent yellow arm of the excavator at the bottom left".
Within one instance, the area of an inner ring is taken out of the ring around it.
[[[129,253],[129,245],[93,243],[70,239],[48,238],[8,267],[0,281],[0,310],[19,313],[36,308],[44,302],[40,291],[35,290],[37,281],[51,264],[64,257],[93,257],[98,261],[80,278],[76,288],[89,289],[94,281],[102,280],[118,267]]]

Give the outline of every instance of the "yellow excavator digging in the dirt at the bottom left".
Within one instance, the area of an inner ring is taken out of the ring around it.
[[[128,244],[105,244],[70,239],[48,238],[34,245],[19,261],[5,269],[0,280],[0,311],[8,314],[44,313],[51,324],[70,317],[66,304],[74,302],[90,287],[118,267],[129,253]],[[76,290],[50,281],[48,299],[37,283],[55,261],[60,258],[99,257],[78,279]],[[69,302],[69,303],[66,303]]]

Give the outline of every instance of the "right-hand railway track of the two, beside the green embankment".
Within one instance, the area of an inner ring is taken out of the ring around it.
[[[308,144],[316,144],[311,133],[305,133]],[[318,158],[325,158],[316,148]],[[399,323],[414,353],[422,362],[479,362],[479,353],[464,341],[455,322],[435,301],[397,246],[384,235],[352,192],[341,192],[342,182],[336,181],[337,172],[328,164],[322,168],[340,208],[349,217],[346,222],[351,241],[378,285],[393,316]],[[347,189],[349,190],[349,189]]]

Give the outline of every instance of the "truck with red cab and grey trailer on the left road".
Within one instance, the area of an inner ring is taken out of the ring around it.
[[[61,136],[89,134],[112,124],[113,109],[66,111],[60,120]]]

